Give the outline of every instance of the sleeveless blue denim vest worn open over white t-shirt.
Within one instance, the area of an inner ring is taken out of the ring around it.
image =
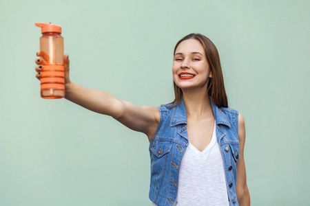
[[[236,163],[240,159],[238,111],[232,108],[218,108],[210,96],[209,100],[216,119],[216,139],[223,158],[229,205],[238,205],[236,196]],[[158,108],[161,119],[149,143],[151,157],[149,199],[158,206],[176,205],[180,164],[188,146],[186,109],[183,98],[174,108],[172,104]]]

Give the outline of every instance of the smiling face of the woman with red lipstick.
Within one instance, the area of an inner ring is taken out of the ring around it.
[[[176,47],[172,74],[183,91],[198,88],[207,91],[207,78],[211,73],[203,45],[198,40],[189,38]]]

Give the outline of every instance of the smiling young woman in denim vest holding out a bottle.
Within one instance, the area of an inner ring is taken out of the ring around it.
[[[41,57],[36,62],[40,79],[44,65]],[[228,108],[220,58],[209,38],[189,34],[178,41],[172,67],[175,100],[159,107],[136,106],[74,84],[68,55],[64,62],[67,100],[147,135],[152,205],[250,205],[245,120]]]

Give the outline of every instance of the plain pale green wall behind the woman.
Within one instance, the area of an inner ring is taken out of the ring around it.
[[[252,205],[309,205],[310,1],[0,1],[0,205],[150,205],[147,137],[34,78],[41,30],[63,27],[71,79],[138,106],[174,98],[172,53],[218,47],[245,117]]]

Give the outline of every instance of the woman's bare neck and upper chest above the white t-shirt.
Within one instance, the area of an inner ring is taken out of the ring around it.
[[[183,101],[187,119],[200,120],[214,118],[207,91],[183,91]]]

